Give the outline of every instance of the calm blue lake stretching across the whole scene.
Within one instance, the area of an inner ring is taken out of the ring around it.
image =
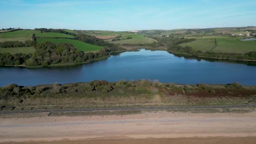
[[[229,62],[197,61],[177,57],[166,51],[144,49],[71,67],[0,67],[0,86],[10,83],[27,86],[120,79],[157,79],[160,82],[179,84],[237,82],[243,85],[256,85],[256,67]]]

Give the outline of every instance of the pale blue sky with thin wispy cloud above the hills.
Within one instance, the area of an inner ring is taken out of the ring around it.
[[[0,0],[0,28],[141,30],[256,26],[256,0]]]

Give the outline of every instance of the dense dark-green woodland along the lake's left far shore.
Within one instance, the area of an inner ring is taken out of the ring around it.
[[[25,63],[27,67],[46,67],[51,64],[84,63],[108,56],[110,52],[120,51],[121,48],[102,48],[99,52],[81,52],[72,44],[56,44],[51,42],[36,43],[36,52],[32,54],[0,54],[0,66],[19,65]]]

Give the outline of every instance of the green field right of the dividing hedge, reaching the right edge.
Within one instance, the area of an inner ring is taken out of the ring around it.
[[[242,41],[242,40],[224,40],[217,39],[217,46],[213,48],[214,52],[220,53],[248,53],[256,51],[256,41]]]

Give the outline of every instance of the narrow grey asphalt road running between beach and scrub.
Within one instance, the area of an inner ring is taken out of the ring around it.
[[[33,110],[2,110],[0,114],[40,113],[40,112],[93,112],[109,110],[171,110],[171,109],[216,109],[216,108],[241,108],[256,107],[256,104],[237,105],[208,105],[208,106],[165,106],[165,107],[102,107],[102,108],[79,108],[79,109],[33,109]]]

